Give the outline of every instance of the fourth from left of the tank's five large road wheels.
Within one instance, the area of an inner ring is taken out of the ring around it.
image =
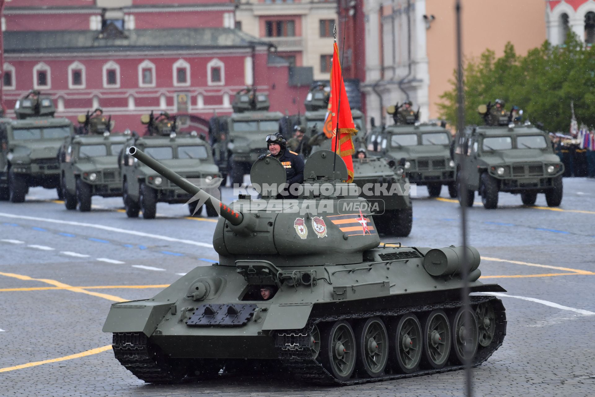
[[[443,310],[430,312],[424,324],[424,354],[428,368],[442,368],[450,354],[450,326]]]

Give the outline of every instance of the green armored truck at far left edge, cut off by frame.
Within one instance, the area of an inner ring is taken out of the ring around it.
[[[0,119],[0,199],[23,202],[29,187],[60,189],[58,149],[73,133],[67,118],[54,118],[50,96],[32,91],[17,101],[17,120]]]

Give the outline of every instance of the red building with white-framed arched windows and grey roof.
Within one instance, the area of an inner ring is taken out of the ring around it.
[[[140,115],[151,110],[188,114],[188,129],[205,130],[205,119],[229,114],[234,93],[247,85],[269,93],[271,110],[304,111],[307,86],[292,83],[296,73],[271,55],[270,43],[234,29],[233,2],[181,3],[7,2],[7,114],[35,88],[54,97],[57,116],[73,121],[100,106],[115,130],[142,131]]]

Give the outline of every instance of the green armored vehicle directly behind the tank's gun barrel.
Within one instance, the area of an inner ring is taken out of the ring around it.
[[[144,120],[149,118],[143,115],[142,121]],[[130,218],[138,217],[139,211],[142,211],[143,218],[152,219],[155,218],[158,202],[186,203],[192,198],[192,195],[180,187],[127,155],[127,148],[133,145],[142,148],[149,156],[163,162],[186,179],[201,179],[203,183],[211,183],[221,176],[213,161],[211,147],[205,140],[196,133],[177,135],[167,128],[171,126],[164,124],[166,128],[160,130],[160,135],[131,136],[120,156],[122,198],[126,215]],[[190,215],[201,214],[202,208],[197,210],[198,204],[198,201],[189,202]],[[217,215],[217,212],[208,207],[206,213],[208,216]]]

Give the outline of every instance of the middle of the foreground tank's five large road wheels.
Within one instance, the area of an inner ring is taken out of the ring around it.
[[[419,323],[417,315],[403,315],[398,322],[394,321],[391,331],[392,361],[398,365],[401,373],[410,374],[416,371],[421,361],[424,345],[421,323]]]

